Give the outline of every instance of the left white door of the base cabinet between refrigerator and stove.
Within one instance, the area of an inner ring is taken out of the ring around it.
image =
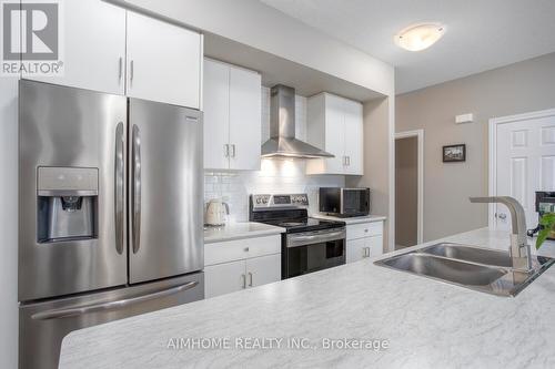
[[[214,297],[245,288],[245,262],[232,262],[204,267],[204,297]]]

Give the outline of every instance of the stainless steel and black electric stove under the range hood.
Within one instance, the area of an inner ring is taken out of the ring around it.
[[[345,223],[309,217],[306,194],[251,195],[249,219],[286,229],[282,279],[345,264]]]

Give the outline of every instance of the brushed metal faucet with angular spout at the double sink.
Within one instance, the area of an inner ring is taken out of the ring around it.
[[[513,269],[519,271],[532,270],[531,248],[526,239],[526,214],[521,203],[509,196],[470,197],[471,203],[498,203],[511,213],[511,258]]]

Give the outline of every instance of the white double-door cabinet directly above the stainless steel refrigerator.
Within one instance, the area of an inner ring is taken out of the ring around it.
[[[200,109],[200,33],[100,0],[62,17],[63,75],[22,78]]]

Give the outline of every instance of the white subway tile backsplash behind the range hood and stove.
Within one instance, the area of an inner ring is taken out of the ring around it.
[[[270,89],[262,88],[262,143],[270,137]],[[306,98],[295,96],[296,137],[306,140]],[[307,193],[310,211],[317,211],[317,188],[344,186],[342,175],[305,175],[305,161],[263,158],[260,171],[205,172],[204,201],[222,198],[230,205],[230,219],[249,219],[250,194]]]

